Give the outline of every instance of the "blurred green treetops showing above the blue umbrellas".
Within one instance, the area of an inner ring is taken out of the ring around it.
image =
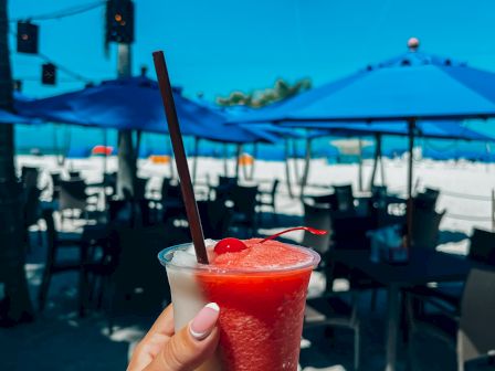
[[[278,100],[287,99],[312,87],[309,78],[303,78],[291,85],[286,81],[278,78],[274,87],[251,93],[232,92],[227,97],[218,97],[217,104],[223,107],[230,106],[247,106],[260,108],[271,105]]]

